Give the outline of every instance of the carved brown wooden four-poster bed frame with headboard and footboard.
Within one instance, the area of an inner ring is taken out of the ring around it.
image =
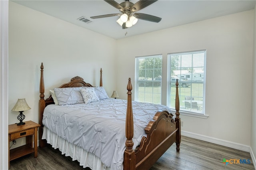
[[[40,100],[39,100],[39,147],[46,146],[46,140],[42,139],[43,127],[42,119],[44,108],[54,104],[52,96],[44,99],[44,65],[41,64],[40,77]],[[64,87],[93,87],[90,83],[84,82],[81,77],[74,77],[69,83],[61,85]],[[100,86],[102,86],[102,69],[100,69]],[[168,148],[176,142],[176,150],[180,151],[181,131],[180,131],[180,103],[178,95],[178,81],[176,81],[176,117],[167,111],[158,111],[154,118],[145,128],[147,137],[143,137],[140,145],[133,150],[133,114],[132,114],[132,83],[128,80],[127,85],[127,110],[126,110],[126,150],[124,151],[124,170],[148,170]]]

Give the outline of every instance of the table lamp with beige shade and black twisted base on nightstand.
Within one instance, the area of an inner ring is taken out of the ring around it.
[[[23,111],[27,111],[31,109],[27,102],[26,99],[18,99],[17,103],[15,104],[15,106],[12,108],[12,111],[15,112],[20,112],[20,115],[18,115],[17,119],[20,121],[20,123],[18,123],[17,125],[24,125],[25,122],[22,122],[25,119],[25,115],[23,115]]]

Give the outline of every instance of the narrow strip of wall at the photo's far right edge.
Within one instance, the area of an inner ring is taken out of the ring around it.
[[[252,157],[256,158],[256,5],[254,7],[254,36],[253,36],[253,60],[252,60],[252,118],[251,118],[251,148]],[[256,162],[254,162],[254,167]]]

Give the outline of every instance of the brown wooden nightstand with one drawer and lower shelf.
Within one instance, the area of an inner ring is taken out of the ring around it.
[[[37,128],[40,127],[39,124],[32,121],[26,121],[25,125],[17,126],[17,124],[9,125],[8,134],[9,134],[9,168],[10,161],[16,158],[20,158],[26,154],[34,152],[34,158],[37,157]],[[22,138],[26,136],[26,144],[18,148],[10,150],[10,142],[12,140]],[[34,140],[33,140],[34,136]],[[33,147],[34,142],[34,147]]]

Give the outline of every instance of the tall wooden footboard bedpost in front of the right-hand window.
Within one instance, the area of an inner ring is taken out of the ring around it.
[[[175,110],[176,117],[175,122],[177,122],[177,126],[179,128],[177,139],[176,139],[176,151],[180,151],[180,141],[181,141],[181,130],[180,130],[180,99],[179,99],[179,90],[178,90],[178,79],[176,80],[176,97],[175,97]]]

